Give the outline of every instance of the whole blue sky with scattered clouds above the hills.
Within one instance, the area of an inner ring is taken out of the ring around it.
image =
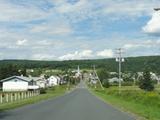
[[[0,0],[0,59],[160,55],[160,0]]]

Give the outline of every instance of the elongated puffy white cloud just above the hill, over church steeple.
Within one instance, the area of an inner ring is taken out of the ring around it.
[[[75,51],[74,53],[68,53],[60,56],[59,60],[75,60],[75,59],[88,59],[92,57],[92,50],[83,50],[81,52]]]

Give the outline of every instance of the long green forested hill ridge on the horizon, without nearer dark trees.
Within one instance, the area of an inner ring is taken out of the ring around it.
[[[117,71],[118,63],[115,59],[96,59],[96,60],[69,60],[69,61],[33,61],[33,60],[1,60],[0,67],[7,65],[16,65],[24,68],[53,68],[69,69],[80,68],[91,69],[93,65],[96,68],[107,68],[108,71]],[[149,66],[153,72],[160,73],[160,56],[130,57],[126,58],[122,65],[123,71],[142,71],[145,66]]]

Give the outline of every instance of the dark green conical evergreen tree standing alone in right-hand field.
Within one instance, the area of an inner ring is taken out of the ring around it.
[[[154,85],[152,83],[151,74],[148,69],[143,72],[143,77],[139,82],[139,87],[145,91],[153,91]]]

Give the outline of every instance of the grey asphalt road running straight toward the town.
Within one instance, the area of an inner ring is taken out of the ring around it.
[[[0,113],[0,120],[135,120],[92,95],[81,83],[64,96]]]

